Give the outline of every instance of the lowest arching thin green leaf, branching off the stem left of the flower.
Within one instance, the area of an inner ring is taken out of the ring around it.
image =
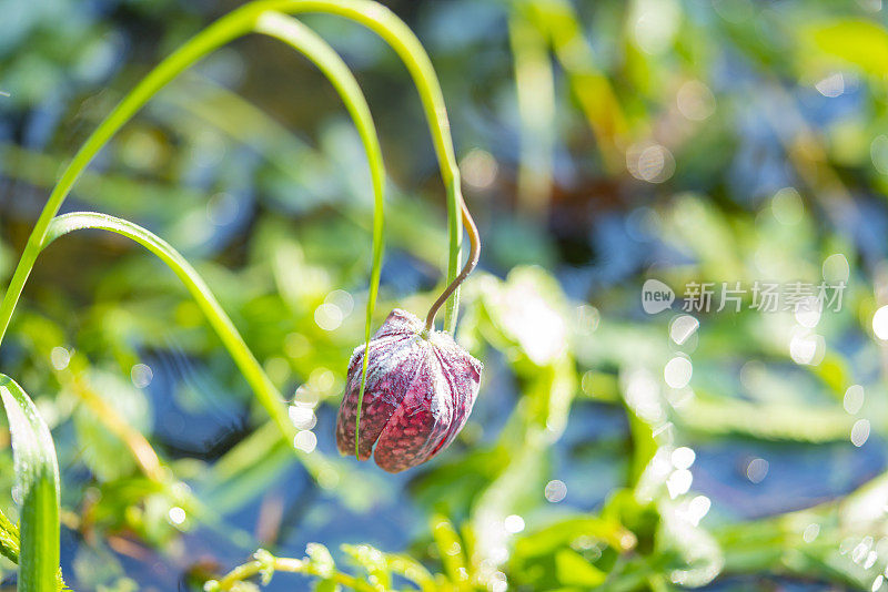
[[[286,408],[283,406],[283,397],[265,375],[259,360],[250,351],[231,318],[225,314],[222,305],[215,299],[215,296],[210,292],[201,276],[198,275],[194,267],[169,243],[141,226],[95,212],[74,212],[53,218],[47,228],[47,235],[40,245],[40,249],[42,251],[60,236],[83,228],[110,231],[131,238],[157,255],[173,271],[194,297],[219,338],[222,339],[225,348],[234,359],[234,364],[238,365],[238,369],[241,370],[262,406],[278,425],[281,432],[286,435],[289,441],[292,442],[295,437],[295,427],[287,417]]]

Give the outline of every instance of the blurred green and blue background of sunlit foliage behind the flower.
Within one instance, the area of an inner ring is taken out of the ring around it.
[[[0,4],[4,277],[87,134],[234,6]],[[270,590],[344,572],[362,590],[888,586],[881,0],[389,6],[438,71],[485,243],[457,331],[485,364],[466,429],[394,477],[339,458],[370,177],[322,75],[240,40],[127,125],[65,207],[133,220],[198,267],[292,395],[301,453],[168,269],[117,236],[64,237],[0,364],[52,427],[69,585],[196,590],[263,548],[315,574]],[[423,313],[446,226],[415,90],[366,31],[304,20],[355,69],[394,187],[376,326]],[[646,315],[647,278],[679,298],[689,282],[847,289],[814,319],[748,294],[740,313]],[[9,491],[6,430],[0,447]]]

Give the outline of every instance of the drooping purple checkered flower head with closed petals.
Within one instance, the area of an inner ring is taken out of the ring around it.
[[[478,392],[482,365],[446,334],[423,335],[422,321],[395,308],[370,341],[361,407],[359,458],[400,472],[437,455],[463,429]],[[349,363],[336,443],[354,455],[364,346]],[[376,445],[375,450],[373,445]]]

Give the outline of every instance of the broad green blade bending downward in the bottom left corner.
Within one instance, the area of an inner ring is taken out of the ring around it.
[[[49,427],[33,401],[0,375],[21,502],[19,590],[50,592],[59,586],[59,463]]]

